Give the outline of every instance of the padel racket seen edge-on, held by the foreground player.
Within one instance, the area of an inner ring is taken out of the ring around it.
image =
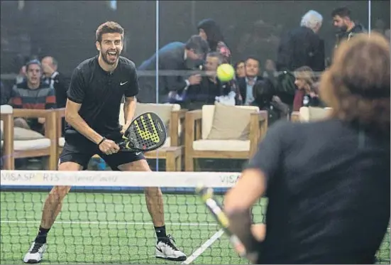
[[[246,251],[246,246],[241,242],[235,234],[229,230],[229,220],[228,216],[221,207],[221,204],[214,200],[214,192],[212,188],[197,188],[197,194],[201,197],[202,201],[209,209],[211,214],[214,216],[219,225],[224,229],[224,232],[228,235],[229,241],[239,255],[243,258],[248,259],[251,263],[255,264],[258,261],[258,252],[248,253]]]

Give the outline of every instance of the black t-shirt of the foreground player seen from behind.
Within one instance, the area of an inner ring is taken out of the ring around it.
[[[267,179],[258,264],[370,264],[390,219],[390,141],[336,119],[277,121],[248,168]]]

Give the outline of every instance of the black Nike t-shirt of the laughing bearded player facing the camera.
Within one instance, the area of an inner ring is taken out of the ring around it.
[[[104,71],[98,56],[84,60],[74,70],[67,91],[68,99],[82,104],[79,115],[102,136],[109,139],[121,137],[119,131],[119,108],[123,95],[138,94],[136,66],[131,60],[120,57],[113,72]],[[65,137],[79,135],[68,125]]]

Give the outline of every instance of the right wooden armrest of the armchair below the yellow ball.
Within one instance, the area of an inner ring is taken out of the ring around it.
[[[260,111],[250,115],[250,156],[253,156],[258,148],[258,143],[265,137],[268,131],[268,112]]]

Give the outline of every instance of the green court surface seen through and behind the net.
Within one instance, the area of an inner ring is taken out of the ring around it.
[[[37,233],[47,194],[1,192],[1,264],[22,263]],[[167,233],[187,254],[187,264],[248,264],[232,251],[199,198],[173,194],[164,198]],[[261,200],[253,210],[258,222],[263,220],[266,203]],[[42,264],[175,263],[155,259],[154,254],[155,232],[143,194],[70,193],[49,232]],[[379,258],[380,263],[390,264],[389,233]]]

